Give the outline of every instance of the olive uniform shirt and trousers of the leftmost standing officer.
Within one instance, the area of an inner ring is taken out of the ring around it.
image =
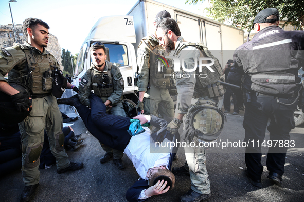
[[[39,183],[39,158],[45,129],[49,138],[50,150],[56,157],[57,169],[65,169],[70,165],[63,148],[62,116],[56,97],[51,94],[51,89],[45,91],[42,89],[43,72],[59,68],[59,64],[47,50],[44,49],[44,52],[41,52],[27,42],[23,45],[15,43],[13,47],[5,49],[9,54],[4,49],[0,50],[0,80],[7,82],[4,76],[8,72],[8,80],[14,79],[14,81],[25,83],[25,79],[32,79],[32,82],[26,83],[33,91],[32,110],[29,116],[19,123],[19,129],[23,181],[26,186],[35,185]],[[28,75],[30,68],[33,69],[33,72],[30,76],[24,76]]]

